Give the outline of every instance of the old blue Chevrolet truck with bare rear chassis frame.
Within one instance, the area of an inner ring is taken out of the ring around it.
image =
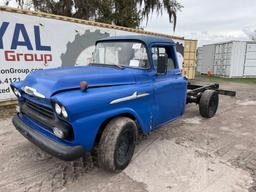
[[[62,160],[97,149],[98,165],[123,170],[140,133],[182,116],[187,103],[215,115],[218,84],[192,85],[178,67],[175,43],[150,36],[96,42],[88,66],[36,71],[11,85],[18,98],[16,129]]]

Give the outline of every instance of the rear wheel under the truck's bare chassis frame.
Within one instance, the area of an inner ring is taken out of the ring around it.
[[[202,117],[211,118],[217,112],[219,105],[219,94],[214,90],[203,92],[199,101],[199,111]]]

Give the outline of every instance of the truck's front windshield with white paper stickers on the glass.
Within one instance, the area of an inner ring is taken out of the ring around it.
[[[138,42],[100,42],[93,54],[93,63],[120,67],[148,67],[145,46]]]

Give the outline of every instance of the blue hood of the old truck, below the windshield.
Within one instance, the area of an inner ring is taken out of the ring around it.
[[[81,81],[86,81],[89,88],[135,83],[128,68],[82,66],[36,71],[28,75],[19,87],[31,87],[49,98],[59,91],[79,89]]]

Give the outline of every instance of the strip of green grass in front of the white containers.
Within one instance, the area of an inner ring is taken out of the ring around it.
[[[244,84],[256,84],[256,78],[225,78],[225,77],[208,77],[207,75],[196,74],[197,80],[209,81],[209,82],[233,82],[233,83],[244,83]]]

